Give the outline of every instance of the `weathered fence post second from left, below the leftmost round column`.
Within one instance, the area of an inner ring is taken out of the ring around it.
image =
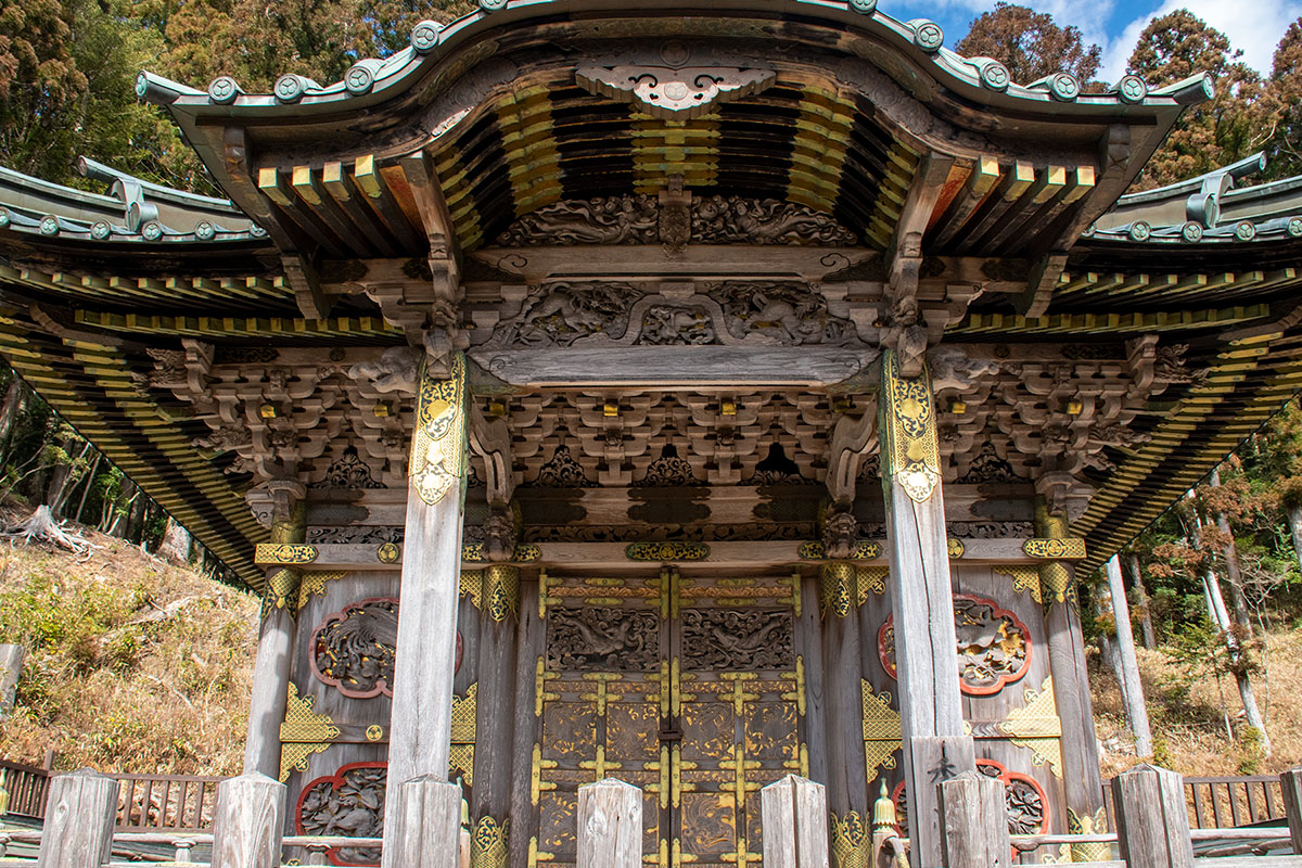
[[[212,868],[279,868],[285,785],[250,772],[217,785]]]

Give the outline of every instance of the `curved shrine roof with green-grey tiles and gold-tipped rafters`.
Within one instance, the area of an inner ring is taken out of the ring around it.
[[[1081,94],[941,42],[871,0],[482,0],[326,86],[142,73],[229,199],[89,160],[109,195],[0,169],[0,353],[256,583],[247,476],[195,450],[193,407],[141,385],[159,353],[405,344],[361,276],[452,251],[474,284],[521,219],[573,203],[654,208],[676,183],[788,203],[862,252],[827,281],[880,285],[917,243],[927,278],[978,286],[945,341],[1189,345],[1206,377],[1092,479],[1075,530],[1096,562],[1297,388],[1302,178],[1236,186],[1254,159],[1122,195],[1207,77]]]

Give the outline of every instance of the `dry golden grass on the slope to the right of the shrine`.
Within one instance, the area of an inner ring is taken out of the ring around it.
[[[1211,677],[1190,682],[1160,651],[1137,649],[1155,751],[1163,765],[1190,776],[1273,774],[1302,761],[1302,630],[1272,631],[1267,647],[1269,677],[1254,675],[1253,687],[1266,714],[1273,748],[1269,757],[1238,737],[1243,708],[1233,678],[1224,677],[1220,685]],[[1125,729],[1117,681],[1107,665],[1091,664],[1095,730],[1105,748],[1100,761],[1104,777],[1111,777],[1138,759]],[[1225,731],[1224,708],[1229,709],[1234,740]]]

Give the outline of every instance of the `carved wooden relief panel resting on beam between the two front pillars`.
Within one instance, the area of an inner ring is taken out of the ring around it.
[[[659,292],[618,282],[543,284],[483,346],[669,345],[866,347],[848,316],[796,281],[660,284]]]

